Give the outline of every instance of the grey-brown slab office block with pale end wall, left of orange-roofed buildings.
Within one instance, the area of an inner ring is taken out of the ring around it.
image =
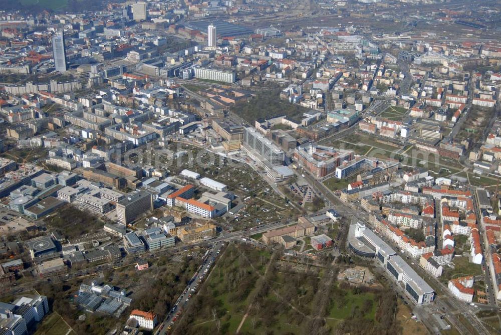
[[[151,193],[139,191],[117,203],[117,221],[128,225],[146,211],[153,210]]]

